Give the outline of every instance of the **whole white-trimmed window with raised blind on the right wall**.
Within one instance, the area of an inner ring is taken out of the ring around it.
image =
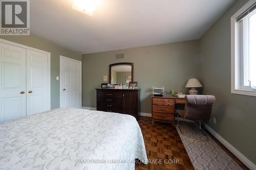
[[[231,62],[231,93],[256,96],[256,0],[231,17]]]

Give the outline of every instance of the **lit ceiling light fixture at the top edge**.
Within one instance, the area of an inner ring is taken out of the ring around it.
[[[95,9],[99,6],[101,0],[73,0],[72,8],[79,12],[93,16]]]

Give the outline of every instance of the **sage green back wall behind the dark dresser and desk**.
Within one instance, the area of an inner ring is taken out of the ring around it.
[[[116,53],[124,59],[115,60]],[[96,90],[109,74],[109,65],[134,63],[134,81],[141,88],[141,112],[151,113],[152,86],[165,86],[166,91],[187,92],[189,78],[199,72],[198,40],[183,41],[82,55],[82,106],[96,107]]]

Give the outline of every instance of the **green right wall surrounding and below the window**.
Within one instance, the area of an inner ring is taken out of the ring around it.
[[[230,17],[247,0],[234,3],[200,39],[203,93],[216,96],[209,126],[256,164],[256,97],[231,94]]]

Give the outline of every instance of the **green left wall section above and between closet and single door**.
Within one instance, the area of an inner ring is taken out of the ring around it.
[[[56,76],[59,76],[59,56],[61,55],[81,61],[81,54],[67,50],[66,48],[33,35],[0,36],[0,38],[51,53],[51,108],[59,108],[59,81],[56,80]]]

